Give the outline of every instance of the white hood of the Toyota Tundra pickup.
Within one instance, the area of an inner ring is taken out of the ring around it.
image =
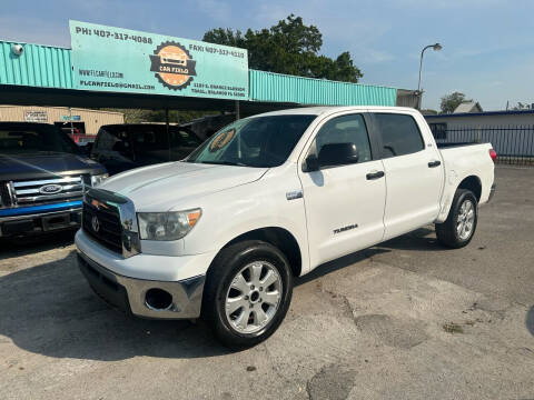
[[[99,188],[129,198],[138,211],[160,212],[205,194],[253,182],[261,178],[267,170],[167,162],[119,173]]]

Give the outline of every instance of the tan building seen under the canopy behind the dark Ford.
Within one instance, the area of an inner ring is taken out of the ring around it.
[[[121,112],[68,107],[0,106],[0,121],[52,123],[76,133],[97,134],[102,124],[123,123]]]

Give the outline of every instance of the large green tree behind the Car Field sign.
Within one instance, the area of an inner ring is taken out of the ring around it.
[[[202,40],[247,49],[251,69],[354,83],[363,77],[348,51],[335,60],[320,56],[323,34],[294,14],[268,29],[248,29],[245,34],[229,28],[211,29]]]

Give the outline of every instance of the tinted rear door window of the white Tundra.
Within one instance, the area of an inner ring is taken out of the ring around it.
[[[411,116],[376,113],[375,120],[382,132],[382,157],[404,156],[424,149],[419,128]]]

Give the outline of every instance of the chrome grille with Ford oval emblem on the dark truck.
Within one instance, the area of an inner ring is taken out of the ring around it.
[[[81,200],[83,177],[61,177],[40,180],[13,181],[11,200],[17,206],[33,206],[68,200]],[[6,190],[10,188],[7,187]],[[8,192],[9,194],[9,192]],[[2,194],[3,200],[3,194]],[[3,201],[2,201],[3,202]]]

